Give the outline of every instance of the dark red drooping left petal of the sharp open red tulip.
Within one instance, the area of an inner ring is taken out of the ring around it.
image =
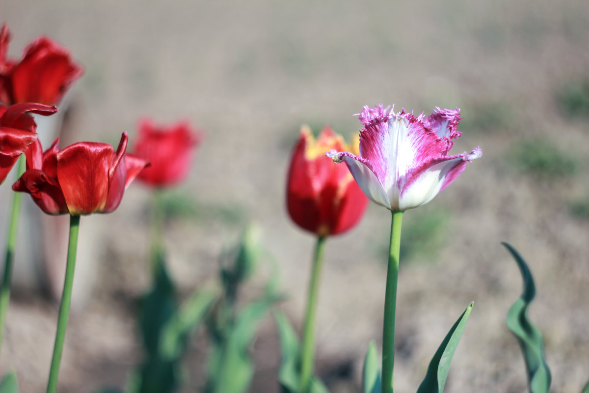
[[[25,171],[12,185],[12,189],[31,194],[33,201],[47,214],[68,212],[59,184],[44,171],[38,169]]]

